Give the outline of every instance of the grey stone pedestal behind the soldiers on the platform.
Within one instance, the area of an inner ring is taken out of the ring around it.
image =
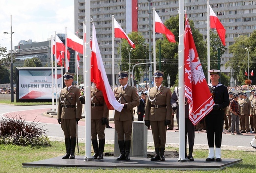
[[[148,128],[144,121],[133,122],[133,140],[130,157],[147,157]],[[120,155],[117,133],[115,131],[114,156]]]

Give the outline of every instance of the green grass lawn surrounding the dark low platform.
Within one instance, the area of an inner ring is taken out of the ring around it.
[[[241,163],[224,170],[212,171],[177,171],[177,170],[150,170],[150,169],[79,169],[79,168],[23,168],[22,163],[49,159],[62,156],[65,153],[64,142],[51,142],[51,147],[30,148],[15,145],[0,144],[0,173],[255,173],[256,172],[256,152],[245,151],[222,151],[222,158],[243,159]],[[85,144],[79,143],[80,153],[85,155]],[[153,148],[150,148],[153,149]],[[176,150],[178,148],[166,148],[166,150]],[[106,144],[105,152],[113,152],[114,145]],[[76,150],[77,152],[77,150]],[[206,158],[208,150],[194,150],[194,158]]]

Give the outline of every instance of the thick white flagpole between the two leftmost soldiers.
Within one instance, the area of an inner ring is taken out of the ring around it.
[[[85,95],[85,161],[92,160],[91,157],[91,49],[90,49],[90,2],[85,0],[85,56],[84,56],[84,95]]]

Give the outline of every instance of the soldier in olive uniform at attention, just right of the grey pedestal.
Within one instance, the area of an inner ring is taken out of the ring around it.
[[[145,125],[148,127],[151,125],[156,151],[151,161],[165,160],[166,126],[171,123],[172,116],[171,90],[162,85],[163,74],[162,71],[155,71],[156,86],[149,89],[146,99]]]

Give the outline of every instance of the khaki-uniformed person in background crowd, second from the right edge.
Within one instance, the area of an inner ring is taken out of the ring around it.
[[[250,132],[249,128],[249,114],[251,109],[251,103],[250,100],[247,98],[247,94],[243,93],[243,99],[238,100],[238,108],[240,111],[240,117],[241,117],[241,133],[248,133]]]

